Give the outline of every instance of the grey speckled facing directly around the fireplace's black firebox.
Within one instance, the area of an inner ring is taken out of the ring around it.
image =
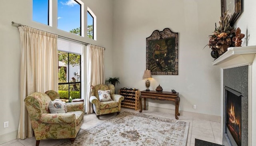
[[[240,67],[232,67],[228,69],[223,69],[223,87],[229,87],[235,91],[242,94],[241,98],[241,122],[242,122],[242,136],[241,136],[241,146],[248,146],[248,65]],[[227,98],[226,91],[223,90],[223,140],[222,144],[225,146],[237,146],[236,141],[232,137],[232,134],[226,129],[226,111],[227,108]],[[235,107],[236,108],[236,107]]]

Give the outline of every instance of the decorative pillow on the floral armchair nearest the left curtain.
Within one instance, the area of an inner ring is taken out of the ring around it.
[[[49,110],[52,114],[66,113],[67,107],[63,101],[61,101],[60,99],[55,99],[54,101],[50,101]]]

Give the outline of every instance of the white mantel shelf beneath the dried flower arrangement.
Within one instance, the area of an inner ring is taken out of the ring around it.
[[[229,47],[223,55],[212,62],[222,68],[252,64],[256,54],[256,45],[246,47]]]

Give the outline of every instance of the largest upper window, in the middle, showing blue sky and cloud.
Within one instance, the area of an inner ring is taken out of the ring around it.
[[[81,36],[81,4],[58,0],[58,29]]]

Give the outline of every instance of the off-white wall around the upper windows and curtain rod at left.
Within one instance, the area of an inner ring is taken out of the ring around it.
[[[57,20],[57,0],[53,1],[54,18]],[[20,116],[20,36],[18,28],[11,25],[12,21],[106,47],[105,73],[106,76],[112,76],[112,0],[82,1],[85,3],[85,24],[87,24],[87,6],[97,16],[97,41],[58,30],[56,20],[53,21],[53,27],[32,22],[32,0],[0,1],[0,99],[2,101],[0,106],[0,144],[16,138]],[[8,128],[3,128],[4,121],[9,121]]]

